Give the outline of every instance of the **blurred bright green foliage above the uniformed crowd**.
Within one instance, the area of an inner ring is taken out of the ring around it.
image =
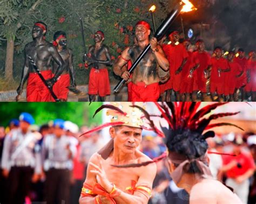
[[[102,103],[94,102],[79,103],[8,103],[2,102],[0,105],[0,124],[8,125],[10,119],[18,118],[21,112],[29,112],[36,121],[36,124],[42,125],[49,121],[62,118],[66,121],[82,125],[96,125],[102,122],[101,114],[97,114],[92,120],[95,110]],[[96,123],[96,124],[95,124]]]

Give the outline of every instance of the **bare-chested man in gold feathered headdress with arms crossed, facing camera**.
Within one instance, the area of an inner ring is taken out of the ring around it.
[[[111,123],[86,132],[112,125],[110,142],[89,161],[79,203],[147,203],[156,176],[156,164],[130,170],[114,166],[151,161],[137,149],[142,141],[143,112],[131,107],[133,103],[112,104],[103,105],[96,111],[104,106],[109,108],[107,115],[113,116]]]

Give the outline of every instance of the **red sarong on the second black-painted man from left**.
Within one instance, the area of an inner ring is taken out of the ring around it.
[[[57,82],[53,85],[53,92],[55,93],[58,99],[64,99],[66,101],[68,99],[69,94],[69,89],[67,87],[69,86],[69,74],[62,74],[59,76]]]

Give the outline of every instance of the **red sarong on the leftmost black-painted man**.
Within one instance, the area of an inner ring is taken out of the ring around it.
[[[44,79],[51,79],[52,72],[50,70],[42,71]],[[51,102],[51,93],[39,78],[37,73],[29,73],[28,85],[26,86],[26,101],[28,102]]]

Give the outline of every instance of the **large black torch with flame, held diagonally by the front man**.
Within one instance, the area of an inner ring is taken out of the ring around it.
[[[189,12],[197,10],[194,5],[188,1],[188,0],[182,0],[179,2],[179,4],[170,12],[169,16],[164,20],[163,23],[158,27],[156,33],[154,34],[154,37],[157,38],[159,41],[161,38],[164,37],[164,35],[169,31],[171,24],[174,22],[174,20],[178,17],[180,12]],[[150,50],[150,44],[148,44],[142,53],[140,53],[139,57],[133,62],[132,67],[129,69],[129,73],[132,73],[134,69],[137,67],[139,62],[144,58],[145,54],[149,52]],[[120,87],[123,86],[125,83],[125,80],[122,79],[119,81],[116,87],[114,87],[114,92],[118,92]]]

